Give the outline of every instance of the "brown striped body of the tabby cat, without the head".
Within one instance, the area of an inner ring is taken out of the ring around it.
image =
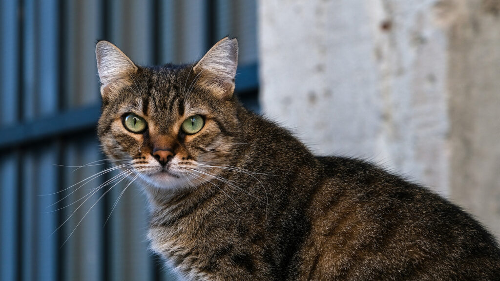
[[[441,197],[359,160],[313,157],[283,129],[251,113],[238,115],[247,126],[242,131],[266,136],[241,135],[250,143],[238,147],[245,157],[228,163],[251,173],[228,170],[220,176],[235,186],[214,180],[220,189],[207,183],[153,210],[152,249],[188,276],[500,276],[493,238]]]

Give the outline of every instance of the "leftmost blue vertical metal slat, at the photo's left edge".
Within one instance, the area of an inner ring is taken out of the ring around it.
[[[0,1],[0,125],[14,123],[19,115],[19,24],[17,1]],[[0,135],[1,137],[1,135]],[[17,153],[0,158],[0,279],[19,278],[20,253]]]

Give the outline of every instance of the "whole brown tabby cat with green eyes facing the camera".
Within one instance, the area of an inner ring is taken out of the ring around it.
[[[426,188],[314,156],[234,92],[238,45],[142,67],[96,45],[105,154],[142,183],[151,249],[189,280],[500,280],[500,249]],[[268,77],[271,79],[272,77]]]

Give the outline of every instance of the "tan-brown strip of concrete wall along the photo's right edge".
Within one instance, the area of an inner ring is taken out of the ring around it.
[[[449,30],[451,198],[500,236],[500,1],[461,1]]]

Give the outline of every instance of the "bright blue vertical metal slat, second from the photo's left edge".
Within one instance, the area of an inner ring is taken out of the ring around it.
[[[58,109],[58,78],[59,78],[59,34],[57,26],[59,4],[57,0],[36,1],[35,4],[37,32],[37,87],[35,94],[39,99],[35,102],[37,112],[35,116],[46,116],[54,114]],[[35,117],[36,118],[36,117]],[[57,235],[52,232],[58,226],[57,205],[50,206],[57,201],[58,176],[57,167],[53,165],[57,161],[57,149],[55,143],[50,143],[39,149],[36,155],[36,173],[32,176],[36,184],[33,185],[35,192],[35,204],[33,204],[33,224],[36,232],[32,237],[35,243],[35,252],[32,261],[33,278],[31,280],[56,280],[58,266],[58,241]],[[50,194],[50,195],[40,195]]]

